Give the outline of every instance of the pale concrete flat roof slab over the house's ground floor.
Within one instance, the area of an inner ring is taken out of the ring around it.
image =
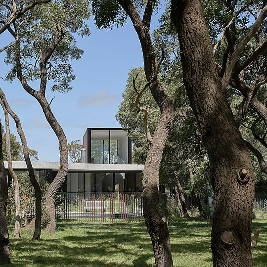
[[[60,162],[32,161],[34,170],[58,171]],[[14,170],[27,170],[25,161],[12,161]],[[7,161],[4,161],[5,169],[8,169]],[[144,165],[137,164],[94,164],[94,163],[69,163],[69,171],[77,172],[141,172]]]

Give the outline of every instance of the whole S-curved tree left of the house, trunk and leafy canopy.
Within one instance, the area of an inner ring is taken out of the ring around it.
[[[52,0],[46,5],[30,11],[28,19],[21,25],[19,41],[7,50],[5,59],[12,64],[6,78],[12,81],[15,76],[23,88],[40,103],[45,118],[59,141],[60,167],[45,195],[46,208],[50,221],[46,231],[55,232],[54,197],[64,182],[68,172],[68,145],[63,129],[54,117],[45,97],[47,81],[52,80],[53,91],[67,92],[72,89],[69,83],[75,79],[72,59],[80,59],[83,50],[75,45],[73,33],[89,35],[85,22],[89,18],[87,0]],[[17,33],[10,31],[15,38]],[[39,90],[33,89],[28,81],[40,80]]]

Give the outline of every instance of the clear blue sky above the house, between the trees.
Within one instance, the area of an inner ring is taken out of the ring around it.
[[[161,13],[161,12],[160,12]],[[151,31],[156,27],[159,14],[152,17]],[[91,35],[77,38],[78,47],[84,50],[82,59],[71,61],[76,75],[73,89],[68,93],[46,90],[48,102],[55,96],[51,109],[63,128],[68,142],[83,138],[86,128],[120,127],[115,119],[122,100],[128,73],[131,68],[143,66],[141,46],[129,21],[123,28],[111,31],[98,30],[93,20],[89,21]],[[9,35],[0,38],[0,48],[9,44]],[[0,76],[5,77],[10,66],[3,62],[5,52],[0,54]],[[37,100],[29,95],[15,80],[8,83],[0,79],[10,107],[19,116],[28,147],[38,151],[40,161],[59,161],[58,140],[46,122]],[[38,84],[33,85],[38,90]],[[0,109],[0,118],[4,122]],[[16,133],[10,120],[10,130]]]

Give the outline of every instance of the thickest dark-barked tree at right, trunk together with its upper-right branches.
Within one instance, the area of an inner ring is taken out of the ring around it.
[[[250,74],[249,66],[266,48],[265,36],[258,34],[265,25],[267,6],[266,1],[223,1],[221,11],[228,12],[230,21],[224,27],[219,25],[222,38],[213,47],[201,1],[172,0],[172,21],[178,31],[183,81],[211,165],[215,199],[213,265],[252,266],[250,243],[255,184],[251,159],[237,125],[249,105],[265,118],[265,108],[256,94],[266,83],[266,67],[263,73],[258,72],[255,83],[247,84],[246,77]],[[236,31],[231,32],[230,28],[235,20],[238,24],[242,16],[246,18],[249,11],[256,14],[255,22],[249,25],[247,20],[247,27],[236,38]],[[222,39],[226,48],[222,61],[216,62],[214,54]],[[244,57],[244,51],[257,39],[260,42],[256,50],[249,50]],[[228,85],[239,89],[244,96],[235,119],[226,99]]]

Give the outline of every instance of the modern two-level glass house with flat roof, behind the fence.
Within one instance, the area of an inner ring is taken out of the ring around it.
[[[132,164],[132,142],[121,128],[88,128],[83,138],[82,163],[69,163],[62,192],[142,191],[143,165]],[[35,172],[51,182],[59,162],[32,162]],[[5,168],[8,170],[7,162]],[[26,172],[24,161],[14,161],[15,171]],[[8,180],[11,177],[8,174]]]

